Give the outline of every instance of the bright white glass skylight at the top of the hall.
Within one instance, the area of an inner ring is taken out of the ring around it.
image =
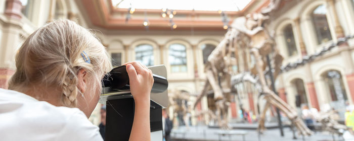
[[[116,8],[172,9],[196,11],[240,11],[251,0],[111,0]]]

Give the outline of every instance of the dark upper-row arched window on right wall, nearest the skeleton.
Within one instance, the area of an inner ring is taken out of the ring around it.
[[[291,24],[287,25],[284,28],[283,33],[284,33],[284,39],[285,39],[286,47],[287,47],[287,50],[288,50],[288,56],[292,56],[292,55],[297,54],[295,38],[294,38],[294,33],[292,31]]]

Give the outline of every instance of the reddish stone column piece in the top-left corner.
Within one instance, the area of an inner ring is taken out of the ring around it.
[[[19,0],[6,0],[5,15],[11,19],[21,19],[22,3]]]

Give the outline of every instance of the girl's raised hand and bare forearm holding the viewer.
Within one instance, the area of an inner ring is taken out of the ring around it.
[[[140,62],[127,62],[130,93],[135,100],[134,121],[129,140],[150,140],[150,92],[154,84],[152,72]]]

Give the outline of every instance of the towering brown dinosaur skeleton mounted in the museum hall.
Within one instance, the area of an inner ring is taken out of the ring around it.
[[[269,88],[269,83],[267,84],[264,75],[264,71],[266,71],[265,66],[267,66],[265,58],[268,56],[273,57],[274,61],[272,65],[275,68],[274,73],[273,71],[268,72],[273,73],[274,78],[281,72],[280,68],[283,57],[276,48],[273,35],[267,29],[267,24],[270,21],[269,15],[278,9],[280,2],[281,0],[273,0],[261,13],[236,18],[231,28],[225,34],[224,39],[220,41],[208,57],[204,68],[207,81],[204,89],[197,98],[195,106],[203,96],[207,95],[208,91],[213,90],[212,102],[215,104],[215,108],[209,109],[217,115],[220,127],[230,128],[227,114],[230,105],[231,82],[235,85],[237,82],[244,82],[246,80],[254,84],[259,94],[262,94],[266,100],[265,106],[259,116],[258,129],[260,132],[265,129],[264,120],[266,111],[271,106],[274,106],[279,108],[289,118],[300,134],[311,135],[313,133],[306,127],[300,117],[297,116],[296,110]],[[253,56],[254,66],[249,70],[250,56]],[[233,65],[238,66],[237,73],[239,75],[234,75],[235,73],[232,70]],[[242,71],[240,71],[241,66],[243,67]],[[257,78],[253,78],[251,74],[257,76]],[[210,100],[208,100],[209,102]]]

